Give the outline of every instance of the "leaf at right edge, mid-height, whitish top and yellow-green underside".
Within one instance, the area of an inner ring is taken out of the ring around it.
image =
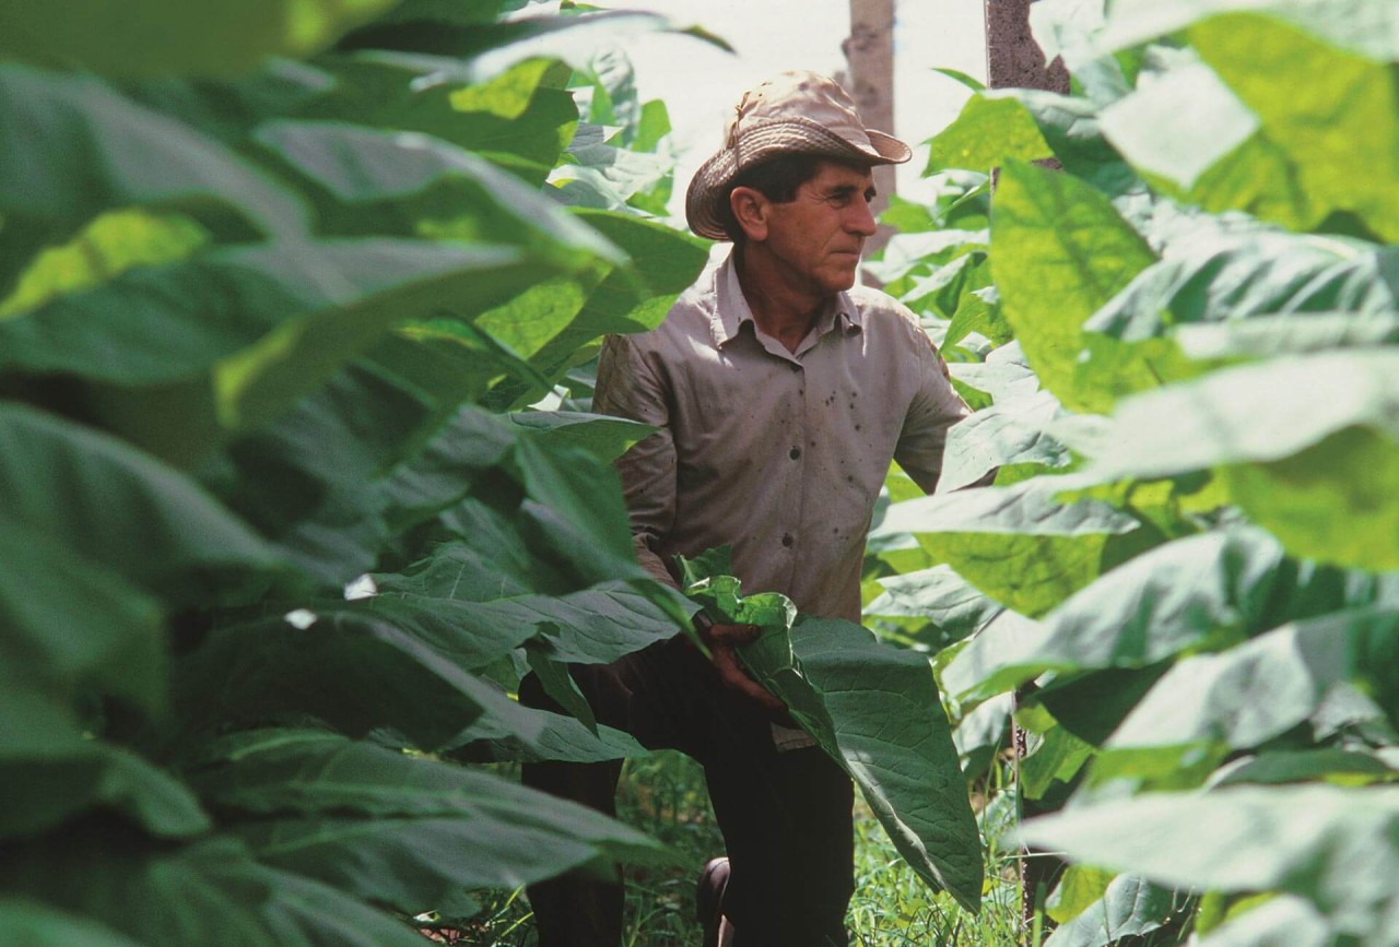
[[[1125,401],[1093,470],[1220,467],[1230,497],[1288,551],[1399,568],[1399,504],[1388,490],[1399,471],[1396,379],[1399,353],[1389,348],[1213,372]]]

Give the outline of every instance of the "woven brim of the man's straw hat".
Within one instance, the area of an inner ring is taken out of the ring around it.
[[[779,154],[811,154],[872,165],[902,164],[914,157],[912,148],[891,134],[872,130],[866,130],[866,134],[869,148],[848,141],[823,124],[797,118],[747,129],[733,147],[720,148],[690,179],[686,190],[686,221],[690,229],[712,241],[729,239],[715,213],[718,196],[741,168]]]

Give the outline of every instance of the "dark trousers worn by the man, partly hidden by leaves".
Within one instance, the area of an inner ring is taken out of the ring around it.
[[[720,687],[708,659],[684,639],[571,670],[600,723],[652,750],[681,750],[704,767],[730,863],[723,912],[736,947],[844,947],[855,888],[849,776],[820,748],[779,753],[768,718]],[[558,709],[533,676],[520,684],[520,701]],[[543,762],[526,765],[523,781],[614,814],[620,774],[620,761]],[[540,947],[621,940],[621,884],[568,874],[532,885],[529,898]]]

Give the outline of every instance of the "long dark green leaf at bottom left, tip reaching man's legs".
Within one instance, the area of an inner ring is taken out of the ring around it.
[[[201,768],[193,783],[256,817],[234,828],[260,859],[403,911],[599,856],[669,860],[637,829],[492,774],[315,732],[250,733],[225,746],[229,761]]]

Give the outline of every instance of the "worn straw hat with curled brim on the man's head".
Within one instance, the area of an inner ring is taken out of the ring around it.
[[[783,152],[872,165],[902,164],[914,155],[894,136],[866,129],[855,113],[855,101],[834,80],[817,73],[782,73],[743,94],[723,148],[690,180],[690,229],[709,239],[729,239],[718,201],[727,196],[740,171]]]

